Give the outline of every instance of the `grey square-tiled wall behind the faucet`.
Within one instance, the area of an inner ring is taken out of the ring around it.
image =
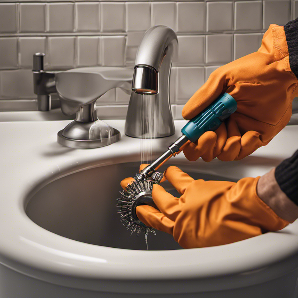
[[[0,101],[36,98],[35,52],[45,52],[48,70],[131,68],[145,31],[166,25],[179,40],[170,98],[174,117],[181,118],[185,102],[215,69],[257,51],[271,23],[297,17],[298,0],[0,1]],[[124,118],[128,101],[117,88],[97,104]]]

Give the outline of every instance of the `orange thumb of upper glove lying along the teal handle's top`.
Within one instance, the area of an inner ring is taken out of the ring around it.
[[[207,108],[220,94],[226,90],[222,67],[209,76],[207,82],[190,97],[182,109],[182,117],[190,120]],[[225,89],[225,90],[224,90]]]

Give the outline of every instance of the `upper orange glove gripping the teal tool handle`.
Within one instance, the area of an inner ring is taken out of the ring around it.
[[[204,161],[239,160],[267,145],[290,120],[297,83],[284,28],[270,25],[257,52],[216,69],[184,106],[182,116],[189,120],[224,92],[238,104],[215,132],[188,144],[184,155],[191,161],[200,156]]]

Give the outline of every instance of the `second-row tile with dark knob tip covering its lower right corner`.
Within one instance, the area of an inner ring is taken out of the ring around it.
[[[19,38],[19,61],[21,67],[32,68],[33,54],[45,53],[45,37],[20,37]],[[45,60],[47,56],[45,56]]]

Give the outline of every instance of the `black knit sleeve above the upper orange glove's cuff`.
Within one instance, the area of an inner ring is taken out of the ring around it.
[[[283,26],[289,50],[289,62],[292,72],[298,77],[298,18]]]

